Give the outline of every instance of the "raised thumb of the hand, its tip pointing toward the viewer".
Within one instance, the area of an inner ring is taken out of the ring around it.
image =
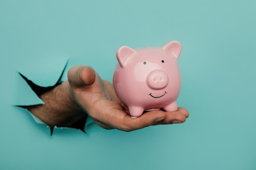
[[[95,71],[89,66],[74,66],[67,72],[71,86],[90,86],[95,81]]]

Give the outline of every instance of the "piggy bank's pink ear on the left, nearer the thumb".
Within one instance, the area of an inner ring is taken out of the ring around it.
[[[121,46],[117,50],[117,60],[121,67],[126,66],[127,60],[130,56],[134,55],[136,51],[128,46]]]

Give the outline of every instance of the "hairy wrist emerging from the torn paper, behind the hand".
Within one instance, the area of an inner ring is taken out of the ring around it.
[[[29,106],[27,109],[50,127],[68,127],[86,115],[77,104],[67,81],[39,97],[45,104]]]

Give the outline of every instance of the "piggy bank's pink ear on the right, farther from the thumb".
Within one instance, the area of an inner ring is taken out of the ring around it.
[[[164,44],[162,46],[162,49],[169,54],[173,54],[173,56],[178,59],[180,56],[180,53],[181,53],[181,44],[180,44],[180,42],[178,42],[176,40],[170,41],[170,42]]]

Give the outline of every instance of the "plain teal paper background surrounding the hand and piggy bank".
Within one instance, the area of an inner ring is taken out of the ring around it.
[[[256,170],[255,0],[0,0],[1,170]],[[53,85],[92,66],[112,81],[119,46],[179,40],[184,124],[134,132],[55,129],[14,104],[38,104],[18,71]]]

